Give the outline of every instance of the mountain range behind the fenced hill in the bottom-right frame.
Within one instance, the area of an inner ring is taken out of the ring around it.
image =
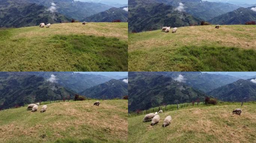
[[[159,105],[204,101],[206,96],[222,101],[256,100],[256,78],[201,72],[129,72],[129,111]]]

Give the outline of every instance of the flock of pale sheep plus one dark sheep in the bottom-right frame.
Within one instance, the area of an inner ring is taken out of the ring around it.
[[[148,121],[151,121],[151,124],[150,125],[155,125],[157,124],[159,121],[160,121],[160,116],[159,114],[162,113],[163,111],[160,110],[159,112],[155,112],[154,113],[149,113],[147,115],[145,115],[145,117],[143,118],[143,122],[148,122]],[[233,113],[236,113],[238,115],[240,115],[242,112],[241,109],[235,109],[233,111]],[[165,119],[164,119],[164,123],[162,125],[162,127],[166,127],[167,125],[169,125],[171,123],[171,116],[167,116]]]

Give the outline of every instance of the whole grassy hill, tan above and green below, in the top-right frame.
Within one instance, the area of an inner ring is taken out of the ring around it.
[[[215,25],[129,33],[129,71],[255,71],[256,26]]]

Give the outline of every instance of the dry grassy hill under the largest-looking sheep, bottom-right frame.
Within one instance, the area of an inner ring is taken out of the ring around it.
[[[232,114],[241,108],[241,115]],[[256,136],[256,105],[221,105],[164,111],[160,122],[143,123],[144,115],[128,118],[128,143],[252,143]],[[171,124],[162,127],[171,115]]]

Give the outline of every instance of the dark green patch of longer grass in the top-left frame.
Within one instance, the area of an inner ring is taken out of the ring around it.
[[[49,41],[57,49],[78,57],[77,71],[127,71],[128,44],[118,38],[86,35],[55,35]],[[80,56],[80,57],[79,57]]]

